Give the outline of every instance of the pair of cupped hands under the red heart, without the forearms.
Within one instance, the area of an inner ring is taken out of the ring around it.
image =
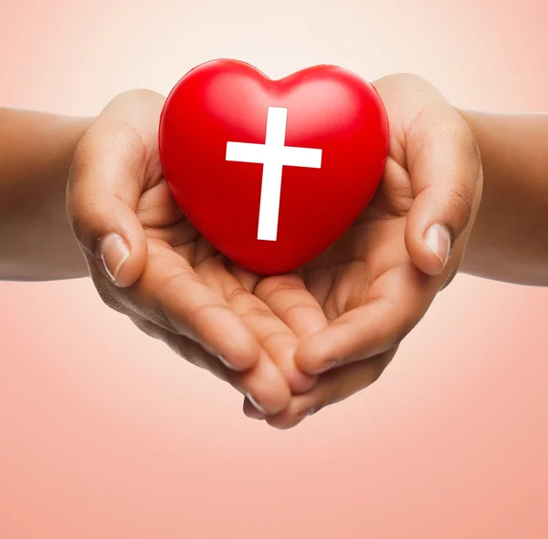
[[[103,300],[278,428],[380,376],[457,272],[477,212],[479,153],[458,112],[420,78],[375,87],[391,129],[379,190],[291,275],[230,264],[184,218],[158,156],[162,96],[115,98],[76,151],[68,216]]]

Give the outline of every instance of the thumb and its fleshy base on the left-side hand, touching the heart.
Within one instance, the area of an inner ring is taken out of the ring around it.
[[[136,282],[146,260],[136,209],[147,181],[161,175],[156,139],[162,104],[153,92],[114,99],[80,141],[70,171],[67,209],[76,238],[121,287]]]

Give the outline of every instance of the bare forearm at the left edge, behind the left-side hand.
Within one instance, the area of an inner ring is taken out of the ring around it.
[[[88,119],[0,109],[0,279],[88,275],[66,211],[72,156]]]

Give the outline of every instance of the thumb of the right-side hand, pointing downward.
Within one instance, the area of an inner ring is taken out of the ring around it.
[[[414,192],[406,247],[427,275],[443,272],[479,204],[479,150],[466,122],[446,104],[430,107],[407,133],[406,159]]]

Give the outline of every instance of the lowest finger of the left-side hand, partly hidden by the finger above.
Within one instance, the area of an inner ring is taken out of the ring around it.
[[[264,352],[254,368],[243,373],[235,372],[188,337],[176,335],[141,317],[133,322],[148,336],[162,340],[181,358],[196,367],[205,368],[243,393],[263,417],[277,414],[289,405],[291,394],[288,384]]]

